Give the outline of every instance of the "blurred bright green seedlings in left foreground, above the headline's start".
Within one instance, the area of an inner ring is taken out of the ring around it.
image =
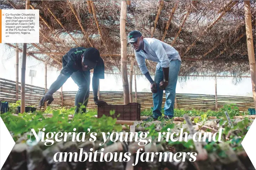
[[[101,118],[94,117],[95,112],[88,111],[84,114],[75,114],[73,119],[68,119],[68,115],[73,112],[74,108],[69,110],[61,109],[53,110],[47,108],[47,111],[51,110],[53,114],[52,118],[45,118],[44,112],[37,113],[23,113],[18,116],[13,115],[11,112],[1,114],[1,118],[4,121],[7,129],[11,132],[12,137],[16,141],[23,134],[31,132],[31,129],[35,129],[38,133],[38,129],[45,128],[45,133],[47,132],[73,132],[73,129],[76,128],[77,133],[87,132],[88,128],[90,133],[96,132],[99,140],[102,135],[101,132],[112,132],[112,131],[121,131],[122,126],[116,125],[116,119],[111,117],[106,117],[103,115]],[[89,136],[89,134],[88,134]],[[28,136],[30,138],[30,135]],[[97,139],[98,139],[97,137]],[[35,137],[31,136],[35,139]]]

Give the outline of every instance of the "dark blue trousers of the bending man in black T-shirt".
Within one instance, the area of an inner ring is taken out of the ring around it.
[[[78,91],[75,95],[75,114],[86,112],[87,103],[90,94],[90,72],[74,72],[70,76],[78,85]],[[85,106],[81,108],[80,106]]]

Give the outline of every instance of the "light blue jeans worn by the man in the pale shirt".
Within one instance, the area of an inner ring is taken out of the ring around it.
[[[171,60],[169,63],[169,80],[165,88],[166,102],[164,104],[164,115],[173,117],[173,107],[176,95],[176,84],[178,80],[179,70],[181,69],[181,61]],[[153,93],[153,117],[162,117],[161,109],[163,102],[163,90],[159,89],[159,84],[163,80],[162,67],[156,68],[155,83],[157,84],[157,93]]]

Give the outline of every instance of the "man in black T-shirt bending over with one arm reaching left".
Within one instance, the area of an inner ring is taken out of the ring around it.
[[[105,67],[97,49],[93,47],[73,48],[62,57],[62,66],[61,74],[41,99],[39,103],[40,108],[48,100],[47,105],[49,106],[53,101],[52,94],[71,77],[79,87],[77,95],[75,96],[75,113],[85,112],[90,93],[90,69],[94,69],[92,79],[94,103],[96,105],[106,103],[105,101],[98,100],[99,79],[104,79]],[[85,108],[80,109],[82,105],[84,105]]]

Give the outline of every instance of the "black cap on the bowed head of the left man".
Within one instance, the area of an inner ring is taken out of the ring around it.
[[[93,47],[86,49],[83,55],[84,55],[84,59],[83,59],[84,65],[90,68],[95,68],[97,63],[100,61],[100,52],[99,50]]]

